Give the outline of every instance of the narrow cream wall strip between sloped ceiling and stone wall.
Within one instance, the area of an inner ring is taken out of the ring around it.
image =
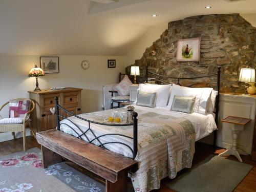
[[[154,26],[140,38],[137,44],[126,54],[126,66],[133,65],[136,59],[143,56],[146,48],[153,45],[153,42],[160,38],[160,35],[168,28],[168,23]]]

